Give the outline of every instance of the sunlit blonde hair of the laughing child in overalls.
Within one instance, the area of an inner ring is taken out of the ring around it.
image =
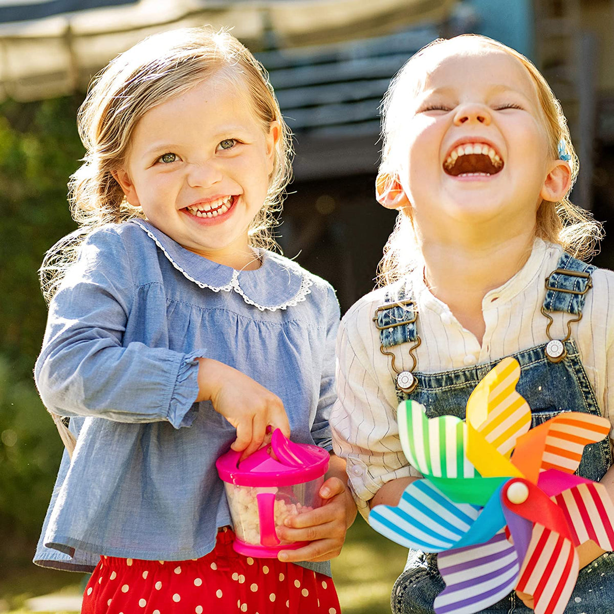
[[[537,99],[543,112],[543,122],[548,134],[550,155],[559,158],[559,142],[564,145],[565,153],[570,156],[569,166],[572,171],[570,188],[560,201],[553,203],[542,201],[537,211],[536,236],[559,243],[574,257],[588,259],[598,251],[598,242],[603,236],[602,225],[591,213],[574,205],[569,200],[569,192],[578,176],[579,161],[567,126],[567,119],[548,82],[535,68],[535,65],[522,53],[517,52],[499,41],[494,41],[479,34],[462,34],[453,39],[437,39],[422,47],[418,53],[406,61],[397,72],[381,104],[382,113],[382,161],[379,173],[398,174],[398,160],[406,152],[401,152],[402,140],[395,138],[398,126],[402,125],[403,115],[407,112],[408,98],[414,98],[424,87],[426,69],[420,70],[419,64],[426,59],[433,47],[443,44],[476,44],[501,50],[518,60],[529,73]],[[409,273],[419,260],[419,249],[413,228],[413,220],[406,212],[399,211],[394,230],[384,247],[384,255],[378,266],[376,281],[384,286]]]

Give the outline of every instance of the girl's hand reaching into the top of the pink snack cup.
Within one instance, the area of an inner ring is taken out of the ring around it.
[[[209,358],[198,359],[197,401],[210,400],[214,410],[236,428],[230,446],[243,450],[243,458],[265,440],[266,427],[281,429],[290,437],[290,424],[281,399],[241,371]]]

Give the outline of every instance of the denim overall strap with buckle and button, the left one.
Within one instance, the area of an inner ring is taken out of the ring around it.
[[[384,300],[386,300],[386,303],[375,310],[373,322],[379,330],[379,341],[381,343],[379,351],[392,359],[392,370],[396,373],[397,396],[401,400],[403,394],[409,394],[418,384],[411,372],[416,368],[414,350],[421,344],[421,339],[416,331],[418,309],[416,309],[413,292],[406,293],[405,284],[400,286],[400,289],[394,295],[391,292],[386,292]],[[412,344],[409,353],[413,359],[413,365],[409,371],[399,371],[395,365],[394,354],[387,351],[388,348],[402,343]]]

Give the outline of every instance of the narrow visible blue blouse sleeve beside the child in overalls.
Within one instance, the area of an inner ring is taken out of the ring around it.
[[[320,379],[320,397],[317,404],[316,417],[311,426],[311,436],[316,445],[331,452],[333,443],[328,418],[336,398],[335,339],[339,327],[340,311],[335,290],[330,286],[327,288],[326,316],[327,329]]]

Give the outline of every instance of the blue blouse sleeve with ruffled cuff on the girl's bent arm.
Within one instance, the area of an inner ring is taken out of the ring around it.
[[[205,350],[123,346],[137,290],[122,238],[111,230],[90,235],[52,300],[34,368],[50,411],[117,422],[168,421],[177,429],[192,424],[196,359]]]

